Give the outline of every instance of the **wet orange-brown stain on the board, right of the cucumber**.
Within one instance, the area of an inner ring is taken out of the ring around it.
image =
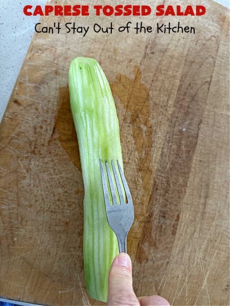
[[[135,66],[133,72],[133,78],[118,74],[116,80],[111,84],[113,95],[119,98],[124,108],[122,117],[120,115],[119,118],[124,168],[135,169],[134,175],[129,178],[129,186],[131,190],[139,191],[139,198],[134,201],[135,227],[131,228],[128,239],[131,257],[139,242],[142,219],[145,215],[153,181],[153,170],[150,166],[153,128],[149,90],[142,82],[140,68]],[[128,132],[130,139],[127,137],[124,139],[123,135],[127,135],[127,131],[130,131]],[[128,150],[124,152],[124,147],[127,147],[127,143],[131,141],[133,141],[134,147],[128,147]],[[123,142],[125,142],[124,145]]]

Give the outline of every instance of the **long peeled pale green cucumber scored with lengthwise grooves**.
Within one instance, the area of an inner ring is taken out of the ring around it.
[[[108,81],[95,59],[71,62],[69,88],[84,181],[86,287],[90,297],[105,302],[118,241],[106,219],[99,161],[119,160],[123,170],[119,122]]]

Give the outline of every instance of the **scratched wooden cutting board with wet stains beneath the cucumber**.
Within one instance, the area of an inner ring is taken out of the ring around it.
[[[229,11],[201,4],[200,17],[41,18],[154,29],[180,21],[196,34],[34,35],[1,124],[1,296],[103,304],[85,290],[84,192],[68,93],[70,62],[86,56],[101,64],[117,107],[134,199],[128,251],[136,294],[229,304]]]

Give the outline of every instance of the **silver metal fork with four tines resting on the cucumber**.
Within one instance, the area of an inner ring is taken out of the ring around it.
[[[110,192],[111,192],[111,197],[112,197],[112,205],[110,203],[106,176],[105,176],[102,162],[100,160],[101,179],[102,179],[102,187],[103,187],[103,193],[104,193],[104,199],[105,199],[106,216],[107,216],[109,226],[111,227],[112,231],[118,238],[119,252],[127,253],[127,245],[126,245],[127,235],[128,235],[128,232],[130,230],[130,227],[134,219],[133,203],[132,203],[132,198],[131,198],[131,194],[129,191],[129,187],[126,182],[125,176],[122,172],[119,161],[117,160],[117,164],[118,164],[118,169],[120,172],[121,180],[123,183],[123,187],[125,190],[127,203],[123,196],[122,186],[120,184],[117,169],[114,166],[113,161],[111,162],[111,164],[112,164],[114,179],[117,185],[120,204],[118,203],[118,200],[117,200],[116,190],[113,185],[111,172],[109,170],[109,165],[107,162],[105,162],[108,182],[109,182],[109,187],[110,187]]]

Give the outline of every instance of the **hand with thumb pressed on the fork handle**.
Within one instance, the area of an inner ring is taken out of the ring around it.
[[[108,279],[107,305],[168,306],[169,302],[158,295],[137,298],[132,288],[132,264],[126,253],[120,253],[112,262]]]

